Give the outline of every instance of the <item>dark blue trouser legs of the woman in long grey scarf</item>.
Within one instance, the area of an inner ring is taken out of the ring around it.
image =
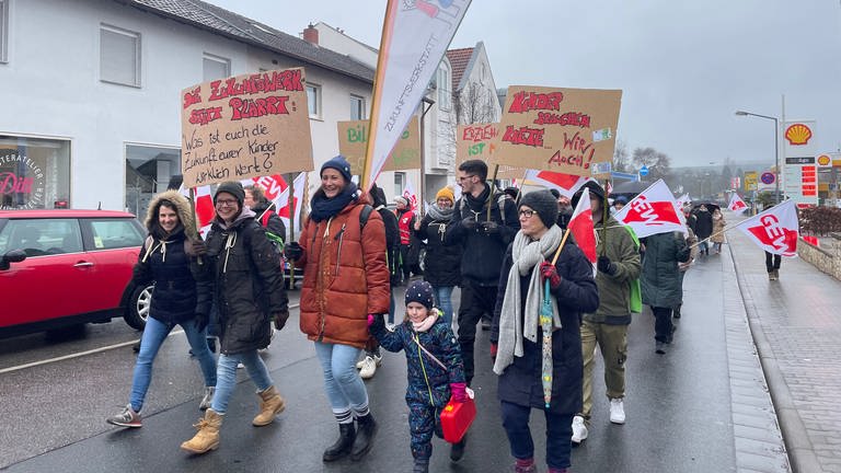
[[[534,441],[529,429],[530,406],[521,406],[502,401],[503,427],[508,435],[511,455],[518,460],[534,458]],[[573,448],[573,414],[553,414],[543,411],[546,416],[546,464],[553,469],[569,468]]]

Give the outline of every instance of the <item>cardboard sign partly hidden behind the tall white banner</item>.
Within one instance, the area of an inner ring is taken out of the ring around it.
[[[338,122],[338,152],[347,158],[350,172],[361,175],[365,172],[365,153],[368,146],[369,120]],[[385,161],[382,171],[404,171],[420,169],[420,122],[417,115],[400,136],[394,150]]]

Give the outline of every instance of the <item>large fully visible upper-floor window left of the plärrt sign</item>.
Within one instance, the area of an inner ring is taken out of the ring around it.
[[[100,25],[100,80],[140,86],[140,33]]]

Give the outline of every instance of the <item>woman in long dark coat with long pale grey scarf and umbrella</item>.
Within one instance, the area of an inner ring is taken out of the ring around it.
[[[563,239],[555,226],[557,201],[549,191],[526,194],[519,205],[520,231],[508,246],[491,333],[494,372],[503,427],[508,435],[515,472],[535,472],[529,429],[532,408],[546,417],[546,464],[550,473],[569,468],[572,422],[581,408],[583,358],[580,316],[599,307],[592,265],[572,238],[555,265],[550,263]],[[552,307],[551,344],[543,343],[539,316],[549,279]],[[544,349],[546,353],[544,354]],[[551,353],[550,353],[551,351]],[[544,355],[551,358],[552,396],[543,393]]]

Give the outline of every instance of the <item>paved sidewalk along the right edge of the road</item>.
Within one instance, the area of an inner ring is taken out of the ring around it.
[[[770,281],[759,247],[727,240],[792,470],[841,472],[841,282],[799,258]]]

